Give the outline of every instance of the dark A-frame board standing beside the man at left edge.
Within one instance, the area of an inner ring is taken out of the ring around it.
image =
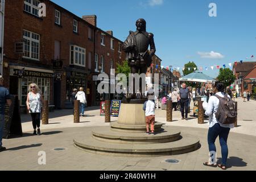
[[[22,136],[18,96],[11,96],[11,105],[5,106],[5,127],[3,129],[3,138],[8,139],[11,135]]]

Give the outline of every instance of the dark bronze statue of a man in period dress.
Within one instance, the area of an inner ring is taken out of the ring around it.
[[[154,35],[146,32],[146,21],[138,19],[136,22],[137,31],[130,31],[130,35],[122,44],[123,51],[126,52],[126,60],[131,67],[131,73],[146,74],[147,68],[152,64],[152,56],[155,55]],[[150,46],[150,51],[148,51]],[[141,84],[139,91],[142,96]],[[133,86],[133,94],[131,98],[135,98],[135,86]]]

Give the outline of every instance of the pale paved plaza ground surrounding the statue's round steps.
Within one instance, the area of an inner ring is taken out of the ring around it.
[[[238,100],[238,127],[231,130],[228,139],[228,170],[256,170],[256,101]],[[174,122],[166,122],[166,111],[156,110],[156,121],[165,127],[189,133],[200,139],[199,150],[188,154],[161,157],[118,157],[92,154],[73,146],[73,138],[90,132],[92,127],[109,126],[100,116],[98,107],[89,107],[80,123],[73,123],[72,110],[56,110],[49,113],[49,125],[42,125],[42,135],[32,135],[30,115],[22,115],[23,137],[3,139],[7,151],[0,153],[0,170],[92,170],[92,171],[175,171],[221,170],[204,167],[208,160],[207,119],[197,124],[190,114],[189,121],[181,121],[179,111],[174,111]],[[117,121],[117,118],[112,118]],[[221,158],[220,144],[216,141],[217,158]],[[64,148],[64,150],[54,150]],[[46,165],[38,164],[38,152],[46,152]],[[167,163],[176,159],[177,163]]]

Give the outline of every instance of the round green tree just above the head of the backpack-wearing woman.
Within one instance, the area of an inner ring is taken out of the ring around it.
[[[223,82],[225,87],[228,87],[236,80],[236,76],[233,75],[231,69],[221,68],[217,80]]]

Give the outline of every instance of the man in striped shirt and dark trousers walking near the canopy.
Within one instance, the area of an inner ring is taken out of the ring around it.
[[[189,90],[187,85],[182,84],[182,88],[180,89],[178,100],[180,101],[180,111],[181,111],[181,119],[188,120],[188,98],[189,98]],[[185,117],[184,117],[184,109],[185,109]]]

